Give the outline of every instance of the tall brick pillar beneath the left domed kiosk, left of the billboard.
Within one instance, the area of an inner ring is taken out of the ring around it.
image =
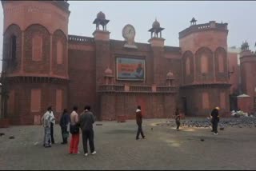
[[[94,42],[95,42],[95,69],[96,69],[96,90],[98,85],[104,84],[104,71],[108,66],[110,66],[110,32],[95,30],[94,33]],[[96,116],[99,120],[101,117],[101,97],[99,93],[96,93]]]

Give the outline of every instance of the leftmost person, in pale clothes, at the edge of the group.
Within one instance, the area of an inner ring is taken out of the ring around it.
[[[44,138],[43,138],[43,146],[44,147],[51,147],[51,140],[50,140],[50,111],[51,107],[48,107],[46,113],[41,118],[42,125],[44,127]]]

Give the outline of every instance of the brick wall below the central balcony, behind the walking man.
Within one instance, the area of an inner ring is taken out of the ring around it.
[[[103,93],[102,119],[115,120],[118,115],[134,119],[138,105],[142,107],[144,118],[162,118],[174,114],[176,103],[174,95],[171,94]]]

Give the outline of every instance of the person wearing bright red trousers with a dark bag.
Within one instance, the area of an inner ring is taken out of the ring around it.
[[[70,154],[78,154],[79,144],[79,125],[78,125],[78,107],[74,106],[73,112],[70,114],[70,133],[72,134],[70,141]]]

